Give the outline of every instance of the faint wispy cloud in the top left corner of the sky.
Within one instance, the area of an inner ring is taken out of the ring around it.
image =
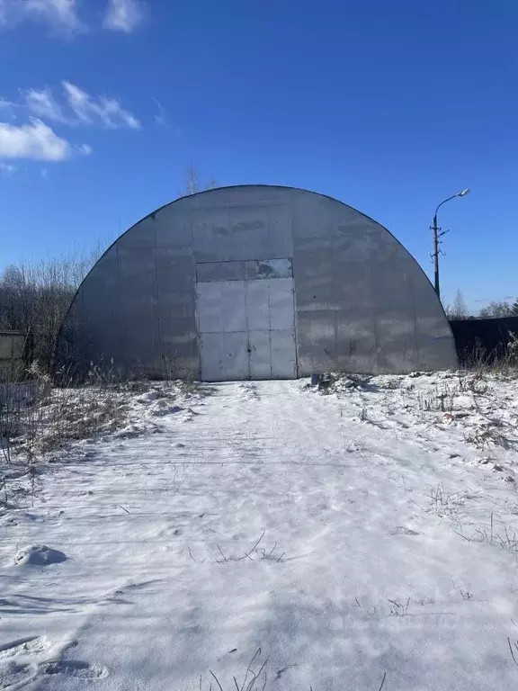
[[[0,23],[47,22],[68,32],[85,26],[77,16],[77,0],[0,0]]]

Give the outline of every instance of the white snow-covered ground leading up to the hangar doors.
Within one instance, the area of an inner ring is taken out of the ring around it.
[[[0,688],[518,688],[517,381],[215,389],[0,513]]]

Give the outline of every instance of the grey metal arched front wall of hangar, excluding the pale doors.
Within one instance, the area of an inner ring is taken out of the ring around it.
[[[283,187],[210,190],[156,211],[94,267],[70,319],[83,329],[88,362],[110,352],[127,372],[139,360],[159,374],[157,363],[170,358],[199,377],[197,280],[291,275],[300,375],[456,366],[441,304],[397,240],[341,202]]]

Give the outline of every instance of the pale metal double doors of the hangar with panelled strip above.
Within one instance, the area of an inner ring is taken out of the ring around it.
[[[295,379],[290,259],[197,265],[201,379]]]

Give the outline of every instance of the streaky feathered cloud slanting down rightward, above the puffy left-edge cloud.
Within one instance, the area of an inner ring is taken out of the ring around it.
[[[129,127],[132,130],[140,129],[140,121],[130,112],[121,107],[116,98],[99,98],[87,94],[79,86],[70,82],[63,82],[68,106],[76,115],[76,118],[85,124],[100,122],[104,127],[117,128]]]

